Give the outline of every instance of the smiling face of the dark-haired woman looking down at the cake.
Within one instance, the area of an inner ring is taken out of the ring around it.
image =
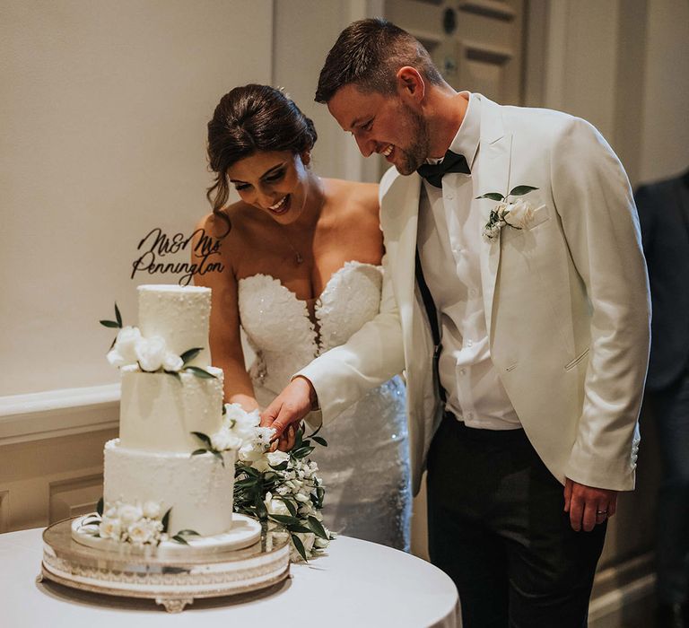
[[[310,183],[309,153],[258,152],[237,161],[227,175],[241,200],[290,224],[304,209]]]

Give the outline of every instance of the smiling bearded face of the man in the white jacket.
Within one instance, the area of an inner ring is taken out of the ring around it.
[[[428,157],[426,121],[397,94],[364,93],[349,84],[337,90],[327,109],[353,135],[364,157],[379,153],[404,175]]]

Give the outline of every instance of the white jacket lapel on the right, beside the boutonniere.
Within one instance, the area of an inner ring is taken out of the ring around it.
[[[484,96],[481,97],[481,144],[472,177],[475,178],[475,196],[488,192],[506,195],[510,191],[510,153],[512,136],[504,131],[500,106]],[[489,338],[492,337],[493,301],[495,285],[500,267],[500,236],[486,241],[483,229],[496,201],[490,198],[475,199],[471,211],[481,214],[481,231],[476,234],[481,239],[481,283],[484,292],[485,326]]]

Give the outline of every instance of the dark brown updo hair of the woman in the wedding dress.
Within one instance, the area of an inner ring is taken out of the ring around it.
[[[232,164],[258,152],[301,154],[317,137],[310,118],[275,87],[252,83],[226,93],[208,123],[208,161],[216,174],[205,196],[213,213],[227,221],[222,208],[230,196]]]

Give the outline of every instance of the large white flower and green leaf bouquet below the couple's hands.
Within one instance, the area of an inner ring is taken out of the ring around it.
[[[262,522],[275,521],[292,539],[292,560],[308,561],[329,545],[334,535],[323,525],[325,488],[318,465],[308,457],[311,440],[327,447],[318,430],[304,438],[298,430],[292,451],[269,451],[273,428],[259,427],[260,416],[239,404],[227,404],[218,432],[194,432],[204,444],[192,455],[211,452],[222,459],[225,449],[237,449],[234,510]]]

